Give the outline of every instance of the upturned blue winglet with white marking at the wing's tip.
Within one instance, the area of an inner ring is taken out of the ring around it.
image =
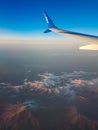
[[[45,20],[46,20],[46,23],[48,25],[48,29],[44,32],[44,33],[48,33],[48,32],[51,32],[51,30],[49,30],[50,28],[57,28],[55,26],[55,24],[53,23],[53,21],[51,20],[51,18],[48,16],[48,14],[46,13],[46,11],[44,11],[44,17],[45,17]]]

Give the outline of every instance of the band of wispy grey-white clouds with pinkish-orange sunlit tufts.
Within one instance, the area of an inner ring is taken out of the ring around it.
[[[36,81],[29,81],[24,79],[22,85],[12,86],[10,83],[0,83],[1,86],[7,86],[12,88],[15,92],[20,92],[24,89],[29,91],[36,91],[40,93],[47,94],[66,94],[67,90],[69,93],[72,91],[71,88],[74,87],[97,87],[98,78],[95,72],[84,72],[84,71],[73,71],[72,73],[62,73],[61,75],[54,75],[53,73],[44,73],[38,75],[41,79]],[[92,79],[92,77],[95,77]]]

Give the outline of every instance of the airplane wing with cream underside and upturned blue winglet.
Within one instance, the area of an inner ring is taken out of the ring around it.
[[[78,39],[87,44],[97,44],[98,45],[98,36],[59,29],[58,27],[55,26],[55,24],[53,23],[53,21],[51,20],[51,18],[48,16],[48,14],[46,12],[44,12],[44,17],[45,17],[45,20],[48,25],[48,29],[44,33],[55,32],[55,33],[62,34],[64,36]]]

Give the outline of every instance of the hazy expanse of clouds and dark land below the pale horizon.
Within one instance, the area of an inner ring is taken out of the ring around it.
[[[97,130],[98,52],[20,43],[0,44],[0,130]]]

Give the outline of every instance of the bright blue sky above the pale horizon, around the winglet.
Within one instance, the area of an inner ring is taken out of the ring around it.
[[[0,0],[0,38],[60,38],[43,34],[44,10],[59,28],[98,35],[98,0]]]

